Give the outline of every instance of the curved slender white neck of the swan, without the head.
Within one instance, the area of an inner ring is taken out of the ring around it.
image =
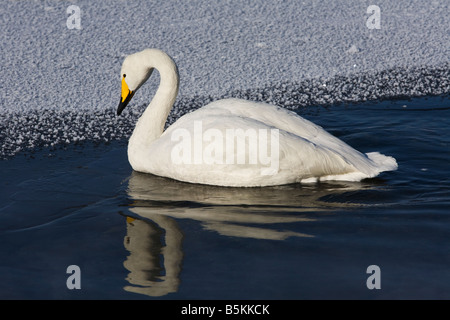
[[[144,51],[143,67],[156,69],[160,84],[152,101],[139,118],[128,144],[128,153],[145,153],[153,141],[164,131],[164,125],[178,94],[178,71],[174,61],[165,53],[148,49]],[[132,158],[141,158],[135,156]],[[134,167],[133,163],[132,166]]]

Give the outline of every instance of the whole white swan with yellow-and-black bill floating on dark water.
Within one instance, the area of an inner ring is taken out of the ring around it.
[[[179,76],[174,60],[159,49],[124,59],[118,116],[155,69],[159,87],[128,143],[135,171],[190,183],[262,187],[360,181],[397,169],[393,157],[363,154],[296,113],[266,103],[214,101],[164,130]]]

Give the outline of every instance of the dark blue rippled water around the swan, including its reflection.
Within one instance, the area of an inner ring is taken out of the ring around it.
[[[0,298],[449,299],[448,96],[299,113],[399,169],[237,189],[132,172],[126,141],[2,161]]]

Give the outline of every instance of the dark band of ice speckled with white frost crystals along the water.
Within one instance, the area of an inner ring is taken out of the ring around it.
[[[167,125],[187,112],[222,98],[268,102],[291,110],[308,106],[358,103],[386,99],[445,95],[450,92],[450,67],[397,68],[352,77],[311,79],[265,88],[234,90],[223,96],[180,98]],[[0,158],[7,159],[36,148],[59,148],[84,141],[109,142],[127,139],[146,104],[132,105],[120,117],[115,109],[6,111],[0,121]]]

